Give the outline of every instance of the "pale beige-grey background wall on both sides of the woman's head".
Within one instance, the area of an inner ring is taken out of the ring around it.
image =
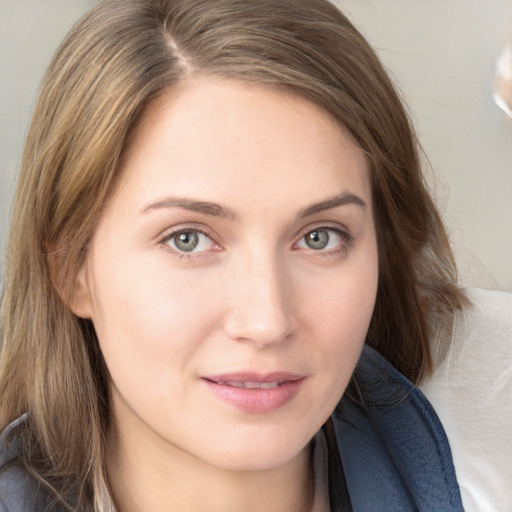
[[[86,0],[0,0],[0,244],[39,80]],[[337,0],[404,91],[464,282],[512,291],[512,120],[492,100],[511,0]],[[1,270],[0,270],[1,276]]]

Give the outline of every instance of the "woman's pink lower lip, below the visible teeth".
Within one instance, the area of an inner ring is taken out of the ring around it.
[[[304,382],[304,379],[283,382],[271,389],[246,389],[204,380],[219,398],[245,412],[270,412],[290,402]]]

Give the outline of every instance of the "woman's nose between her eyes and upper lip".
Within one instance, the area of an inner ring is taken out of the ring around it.
[[[277,258],[241,262],[230,273],[224,331],[260,348],[286,340],[295,329],[293,286]]]

